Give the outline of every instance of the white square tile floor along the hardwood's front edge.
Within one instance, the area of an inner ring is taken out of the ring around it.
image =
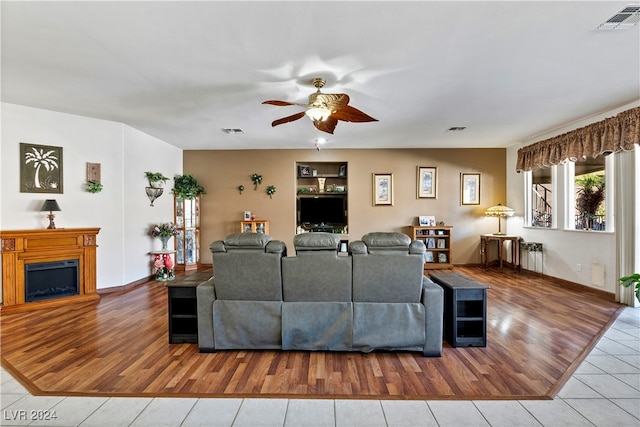
[[[640,308],[625,309],[553,400],[55,397],[0,378],[3,426],[640,426]]]

